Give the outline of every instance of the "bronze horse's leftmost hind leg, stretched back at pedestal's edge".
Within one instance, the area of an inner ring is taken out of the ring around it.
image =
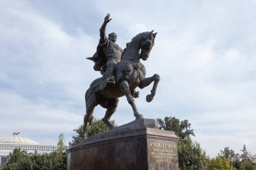
[[[90,95],[90,97],[86,97],[86,115],[84,116],[84,129],[82,138],[86,138],[86,126],[92,123],[92,113],[94,112],[95,106],[98,105],[98,101],[96,99],[96,95]]]

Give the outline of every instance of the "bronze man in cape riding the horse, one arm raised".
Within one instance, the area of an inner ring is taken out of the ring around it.
[[[115,70],[117,63],[121,61],[123,49],[116,44],[117,34],[115,34],[115,32],[108,34],[108,38],[106,38],[106,24],[111,20],[109,19],[109,16],[109,14],[106,15],[104,23],[100,28],[100,42],[98,44],[97,52],[94,56],[88,59],[95,62],[94,70],[104,72],[104,69],[106,69],[104,77],[106,78],[107,83],[115,83],[113,71]]]

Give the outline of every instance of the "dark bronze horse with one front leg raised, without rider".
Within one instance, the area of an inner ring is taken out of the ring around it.
[[[154,31],[154,30],[153,30]],[[156,95],[156,88],[160,81],[160,76],[154,74],[152,77],[146,78],[146,69],[140,62],[147,60],[150,56],[150,51],[154,46],[154,40],[157,33],[143,32],[137,34],[137,36],[131,39],[131,42],[127,43],[127,48],[123,54],[121,62],[118,63],[115,69],[115,84],[107,84],[104,89],[100,88],[100,83],[104,77],[100,77],[94,80],[89,89],[86,91],[86,115],[84,116],[84,129],[82,138],[86,138],[86,126],[92,124],[93,112],[96,105],[101,105],[102,108],[106,108],[106,114],[102,119],[103,122],[110,127],[115,128],[110,122],[110,117],[115,113],[119,102],[119,97],[126,96],[128,103],[133,109],[135,119],[141,119],[143,116],[139,114],[133,92],[136,87],[143,89],[154,81],[151,93],[146,96],[146,101],[150,102]]]

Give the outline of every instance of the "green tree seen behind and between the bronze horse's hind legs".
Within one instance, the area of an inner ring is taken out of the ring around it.
[[[115,124],[115,120],[112,120],[110,122],[115,127],[117,127],[117,124]],[[69,144],[74,143],[74,142],[78,142],[79,140],[81,140],[83,129],[84,129],[84,124],[80,125],[77,129],[73,130],[75,132],[75,134],[72,134],[72,139],[73,140],[71,142],[69,142]],[[110,128],[103,122],[102,119],[94,119],[90,126],[87,125],[86,134],[89,137],[89,136],[92,136],[94,134],[106,132],[108,130],[110,130]]]

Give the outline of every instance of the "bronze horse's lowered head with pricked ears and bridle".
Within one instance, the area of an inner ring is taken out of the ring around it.
[[[153,31],[152,32],[144,32],[143,37],[139,41],[139,48],[141,49],[139,58],[141,58],[142,60],[148,59],[148,57],[150,56],[150,51],[152,50],[152,47],[154,46],[154,41],[155,41],[157,32],[153,34]]]

